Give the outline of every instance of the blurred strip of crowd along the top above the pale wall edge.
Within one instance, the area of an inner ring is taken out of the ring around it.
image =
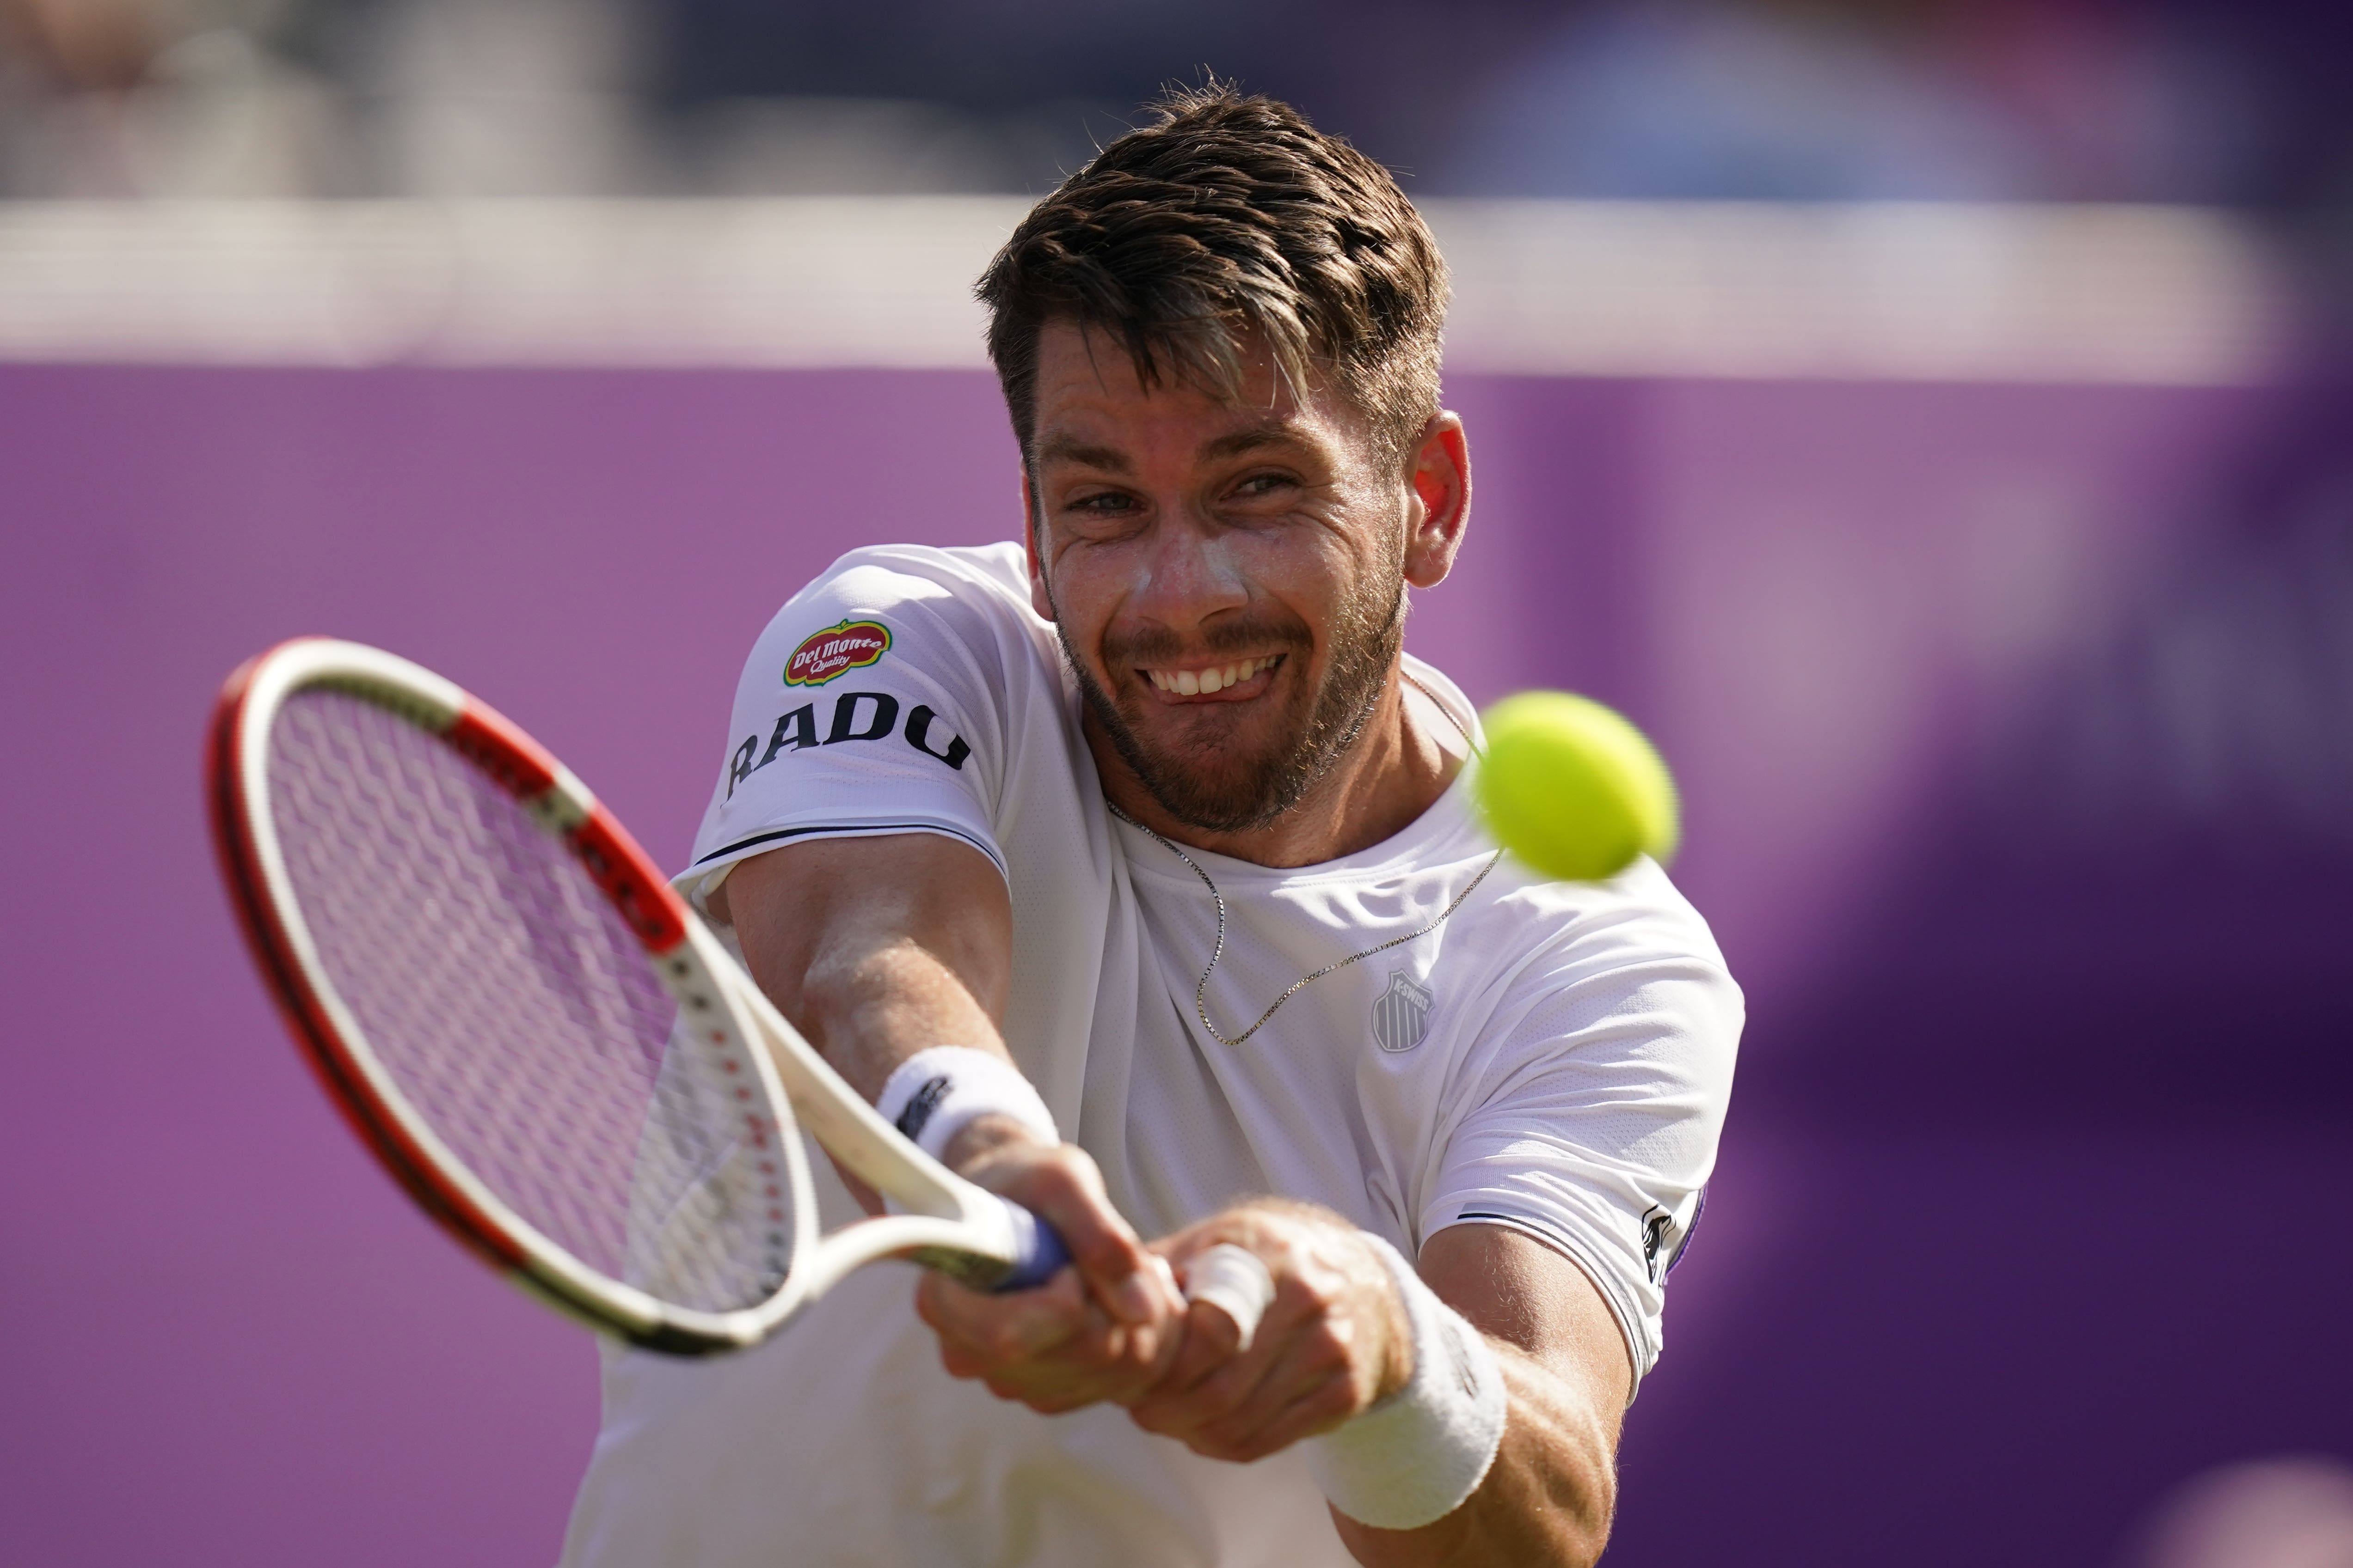
[[[1424,193],[2353,197],[2306,0],[0,0],[0,195],[1040,190],[1169,80]]]

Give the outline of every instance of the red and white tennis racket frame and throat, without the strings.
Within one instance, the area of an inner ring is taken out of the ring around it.
[[[285,703],[308,689],[376,703],[496,780],[572,849],[704,1037],[751,1060],[758,1079],[751,1131],[765,1128],[776,1145],[793,1194],[791,1265],[767,1300],[732,1312],[685,1307],[581,1262],[473,1175],[407,1100],[320,964],[271,816],[271,729]],[[454,682],[355,642],[278,644],[221,689],[207,797],[247,945],[327,1095],[402,1190],[527,1295],[631,1345],[699,1356],[758,1345],[878,1258],[904,1255],[984,1288],[1014,1267],[1021,1246],[1005,1199],[958,1178],[889,1126],[776,1011],[579,776]],[[795,1112],[838,1164],[901,1213],[821,1237]]]

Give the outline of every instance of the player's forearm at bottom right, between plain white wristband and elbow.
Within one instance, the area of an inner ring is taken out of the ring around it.
[[[1504,1371],[1504,1443],[1478,1490],[1419,1530],[1374,1530],[1332,1512],[1365,1568],[1593,1563],[1617,1505],[1617,1422],[1600,1403],[1506,1340],[1487,1335]]]

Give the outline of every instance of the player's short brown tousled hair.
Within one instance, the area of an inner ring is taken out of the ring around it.
[[[1214,80],[1038,202],[976,294],[1024,456],[1047,320],[1115,336],[1146,386],[1174,371],[1226,397],[1242,339],[1264,341],[1294,393],[1329,371],[1398,454],[1438,411],[1447,263],[1421,214],[1289,103]]]

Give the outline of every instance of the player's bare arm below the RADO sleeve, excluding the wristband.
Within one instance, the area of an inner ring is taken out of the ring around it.
[[[736,865],[711,912],[734,924],[760,990],[868,1100],[925,1046],[1012,1060],[998,1030],[1012,987],[1012,900],[969,844],[932,832],[791,844]],[[1078,1260],[1085,1291],[1066,1274],[1005,1298],[1024,1342],[1094,1333],[1125,1356],[1158,1354],[1160,1338],[1118,1333],[1167,1307],[1158,1265],[1104,1201],[1094,1161],[1007,1117],[972,1121],[946,1152],[965,1178],[1042,1213]],[[871,1192],[859,1199],[875,1208]]]

